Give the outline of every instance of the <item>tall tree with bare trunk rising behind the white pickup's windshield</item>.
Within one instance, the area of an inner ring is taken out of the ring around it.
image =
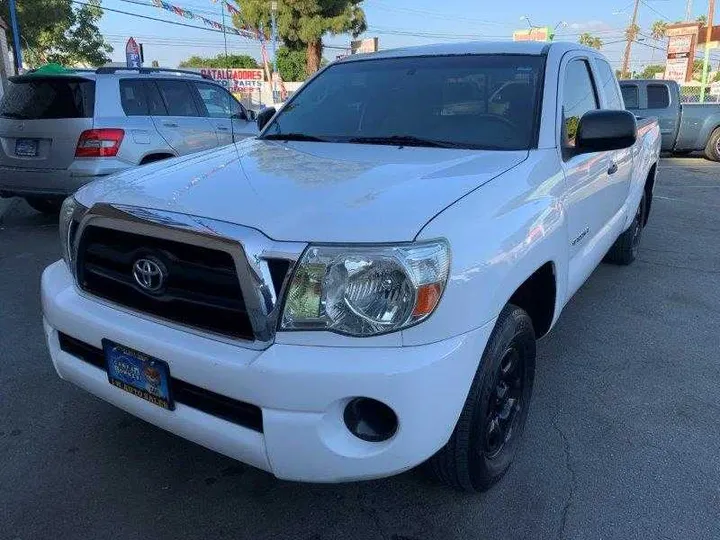
[[[271,2],[236,0],[240,12],[233,22],[240,28],[262,29],[267,34],[271,24]],[[315,73],[322,61],[322,38],[325,34],[349,33],[359,36],[367,29],[362,0],[280,0],[278,1],[278,34],[291,50],[306,52],[308,74]]]

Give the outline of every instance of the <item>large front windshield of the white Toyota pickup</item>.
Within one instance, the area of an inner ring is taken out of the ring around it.
[[[339,63],[303,88],[263,138],[528,149],[542,66],[530,55]]]

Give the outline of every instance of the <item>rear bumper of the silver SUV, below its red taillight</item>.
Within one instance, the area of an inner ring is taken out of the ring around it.
[[[8,195],[68,196],[79,188],[131,164],[118,159],[76,160],[67,169],[0,167],[0,191]]]

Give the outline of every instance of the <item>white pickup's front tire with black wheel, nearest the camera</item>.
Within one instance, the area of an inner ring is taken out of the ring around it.
[[[433,476],[475,493],[500,480],[517,452],[534,379],[532,321],[525,311],[508,304],[485,347],[450,440],[428,462]]]

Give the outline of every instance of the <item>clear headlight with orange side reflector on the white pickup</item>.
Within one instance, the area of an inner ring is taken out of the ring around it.
[[[449,268],[445,241],[310,246],[288,289],[281,329],[371,336],[406,328],[435,310]]]

